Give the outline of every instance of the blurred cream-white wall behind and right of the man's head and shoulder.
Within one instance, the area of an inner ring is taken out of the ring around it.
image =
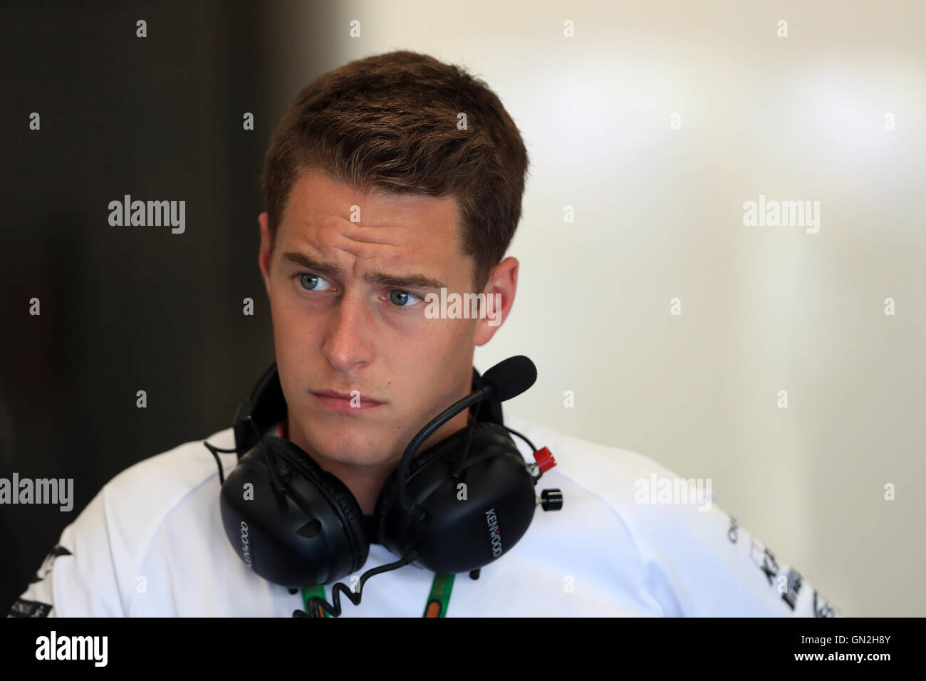
[[[319,73],[404,48],[482,77],[519,125],[518,294],[475,358],[537,364],[509,413],[711,478],[846,615],[926,613],[926,4],[273,9],[281,113]],[[819,233],[744,226],[759,195],[820,201]]]

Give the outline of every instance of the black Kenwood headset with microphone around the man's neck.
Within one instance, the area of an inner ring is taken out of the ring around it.
[[[291,588],[330,584],[356,573],[368,559],[371,539],[402,557],[378,572],[411,563],[435,573],[478,574],[527,532],[540,501],[534,486],[556,465],[549,449],[537,450],[502,418],[501,402],[535,379],[531,360],[523,356],[506,359],[484,377],[473,368],[474,392],[409,443],[382,486],[372,522],[365,523],[341,480],[289,440],[262,435],[286,415],[272,364],[235,415],[235,449],[224,450],[238,454],[235,468],[221,481],[226,535],[250,569]],[[488,409],[481,418],[483,400]],[[472,414],[467,427],[412,458],[434,430],[467,408]],[[525,462],[508,432],[528,443],[536,462]],[[219,461],[215,452],[223,450],[206,447]],[[561,505],[559,490],[544,490],[544,510]],[[372,572],[361,578],[361,586]]]

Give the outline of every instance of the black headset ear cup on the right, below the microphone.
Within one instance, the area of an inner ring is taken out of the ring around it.
[[[424,509],[411,518],[398,501],[398,469],[382,488],[377,527],[382,545],[397,556],[416,549],[414,564],[435,573],[463,573],[501,557],[527,532],[536,507],[534,481],[505,428],[477,422],[469,456],[454,472],[466,429],[419,454],[409,466],[407,488]]]

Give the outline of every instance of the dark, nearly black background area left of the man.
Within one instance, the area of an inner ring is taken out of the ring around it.
[[[273,359],[257,215],[282,107],[267,104],[260,11],[244,2],[0,10],[0,477],[74,479],[70,512],[0,506],[5,612],[109,479],[229,427]],[[243,129],[245,112],[254,131]],[[185,200],[185,233],[110,226],[109,202],[127,194]],[[33,296],[40,316],[29,313]],[[244,316],[244,297],[254,316]]]

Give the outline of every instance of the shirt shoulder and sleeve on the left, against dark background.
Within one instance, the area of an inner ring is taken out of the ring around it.
[[[232,448],[232,429],[207,438]],[[233,453],[219,454],[225,471]],[[9,616],[113,617],[131,614],[153,540],[184,500],[219,473],[203,440],[183,443],[114,476],[62,531]]]

